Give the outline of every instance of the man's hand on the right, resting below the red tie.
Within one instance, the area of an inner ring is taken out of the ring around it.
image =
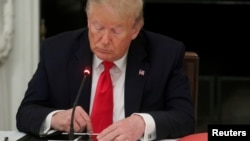
[[[110,125],[97,136],[97,139],[101,141],[136,141],[142,137],[144,130],[143,118],[133,115]]]

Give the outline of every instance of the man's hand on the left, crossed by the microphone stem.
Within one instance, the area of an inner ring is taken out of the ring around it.
[[[57,112],[52,116],[51,127],[58,131],[69,132],[71,114],[72,108]],[[77,106],[75,109],[74,131],[83,132],[85,128],[87,128],[87,131],[90,133],[93,131],[89,115],[83,110],[82,107]]]

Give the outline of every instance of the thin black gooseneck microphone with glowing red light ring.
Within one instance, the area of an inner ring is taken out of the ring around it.
[[[74,140],[74,116],[75,116],[75,109],[76,109],[76,106],[78,104],[78,100],[79,100],[79,97],[81,95],[81,92],[82,92],[82,88],[84,86],[84,83],[86,81],[86,78],[90,75],[90,69],[89,68],[86,68],[84,69],[83,71],[83,79],[82,79],[82,83],[80,85],[80,88],[78,90],[78,93],[76,95],[76,99],[74,101],[74,105],[73,105],[73,109],[72,109],[72,113],[71,113],[71,121],[70,121],[70,131],[69,131],[69,140]]]

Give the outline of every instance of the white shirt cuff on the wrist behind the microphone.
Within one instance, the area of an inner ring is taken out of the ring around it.
[[[51,130],[51,118],[52,118],[52,116],[53,116],[55,113],[57,113],[57,112],[59,112],[59,111],[62,111],[62,110],[56,110],[56,111],[53,111],[53,112],[51,112],[51,113],[49,113],[49,114],[47,115],[47,117],[46,117],[45,120],[43,121],[42,126],[41,126],[40,131],[39,131],[39,135],[40,135],[41,137],[46,136],[46,135],[50,135],[50,134],[56,132],[56,130]]]

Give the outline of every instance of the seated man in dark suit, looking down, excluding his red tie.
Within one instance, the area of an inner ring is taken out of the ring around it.
[[[90,67],[73,121],[76,132],[93,132],[89,115],[97,78],[101,62],[109,61],[114,63],[113,124],[97,139],[154,140],[193,133],[194,107],[183,70],[185,47],[143,30],[142,11],[142,0],[91,0],[86,5],[87,28],[45,40],[17,112],[17,128],[40,136],[53,130],[69,132],[82,71]]]

